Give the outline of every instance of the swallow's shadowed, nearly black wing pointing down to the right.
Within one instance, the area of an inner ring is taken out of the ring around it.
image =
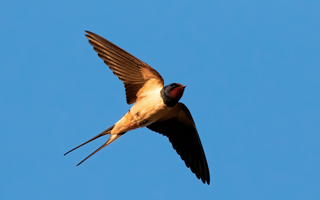
[[[207,159],[190,111],[183,103],[177,103],[170,113],[147,126],[148,129],[169,138],[172,147],[184,160],[191,172],[202,182],[210,183]]]

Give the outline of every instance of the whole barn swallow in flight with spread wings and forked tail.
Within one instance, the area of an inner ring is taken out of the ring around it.
[[[124,83],[127,103],[135,104],[116,124],[76,147],[79,148],[103,135],[110,135],[104,145],[79,164],[124,133],[147,127],[167,136],[191,172],[195,173],[198,179],[201,178],[204,184],[207,182],[209,185],[209,168],[196,125],[188,108],[178,102],[186,86],[179,83],[164,86],[162,76],[155,69],[103,37],[85,32],[98,56]]]

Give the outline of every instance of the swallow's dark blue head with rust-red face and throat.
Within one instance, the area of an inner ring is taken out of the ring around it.
[[[181,99],[184,88],[180,83],[172,83],[162,88],[160,94],[166,106],[173,107]]]

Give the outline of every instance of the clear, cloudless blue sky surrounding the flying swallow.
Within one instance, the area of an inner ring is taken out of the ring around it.
[[[320,199],[319,1],[3,1],[1,199]],[[204,185],[130,108],[84,36],[187,85]]]

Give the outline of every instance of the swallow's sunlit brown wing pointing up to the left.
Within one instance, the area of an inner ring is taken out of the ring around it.
[[[154,79],[151,81],[152,84],[164,86],[162,76],[154,68],[103,37],[89,31],[85,32],[88,34],[85,36],[89,39],[93,49],[98,52],[98,56],[124,82],[128,104],[136,102],[141,93],[139,90],[148,80]]]

